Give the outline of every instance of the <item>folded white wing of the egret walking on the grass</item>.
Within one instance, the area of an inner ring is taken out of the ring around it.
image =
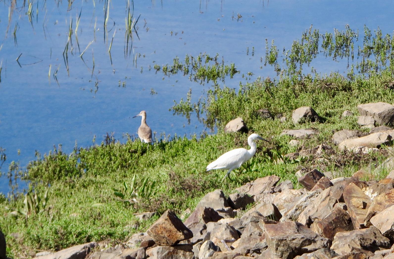
[[[232,167],[238,167],[238,165],[243,163],[247,150],[245,148],[237,148],[226,152],[225,154],[219,156],[215,161],[210,163],[206,170],[212,169],[230,169]]]

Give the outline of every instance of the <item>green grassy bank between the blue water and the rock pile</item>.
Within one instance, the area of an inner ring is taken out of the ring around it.
[[[209,191],[220,188],[230,194],[258,177],[275,174],[282,180],[290,179],[297,187],[295,172],[302,167],[334,170],[338,176],[349,176],[359,168],[372,170],[387,158],[385,148],[365,155],[339,152],[331,143],[331,136],[342,128],[360,129],[358,104],[391,103],[394,91],[384,83],[387,81],[392,81],[389,72],[368,79],[356,76],[349,80],[332,74],[302,80],[255,81],[242,85],[240,91],[217,87],[208,93],[208,99],[199,108],[207,124],[215,122],[219,126],[216,135],[161,139],[150,146],[131,140],[121,144],[109,137],[89,148],[75,148],[72,154],[61,150],[44,156],[37,154],[37,159],[19,174],[31,181],[31,196],[37,193],[37,198],[41,198],[42,211],[34,213],[30,209],[28,212],[32,213],[27,218],[13,213],[18,210],[23,213],[26,206],[23,194],[16,199],[0,200],[0,228],[6,235],[8,256],[28,257],[40,250],[59,250],[88,241],[124,242],[133,233],[146,231],[158,217],[143,222],[134,213],[157,211],[160,215],[170,208],[180,215],[187,208],[193,209]],[[294,125],[291,119],[281,123],[277,119],[263,120],[255,113],[256,109],[268,108],[291,118],[292,110],[300,106],[312,106],[325,122]],[[346,109],[355,115],[340,118]],[[221,130],[228,120],[238,116],[245,120],[250,132],[259,133],[271,142],[258,142],[256,155],[242,172],[237,171],[231,181],[221,183],[225,172],[205,172],[205,167],[224,152],[247,146],[247,134]],[[290,137],[280,135],[282,130],[310,127],[320,134],[301,140],[302,148],[325,142],[333,146],[335,155],[327,155],[322,161],[305,158],[281,163],[275,157],[270,159],[274,152],[287,154],[297,150],[288,145]],[[377,178],[383,178],[384,174],[378,172]],[[134,176],[138,195],[130,196],[124,191],[124,183],[129,193]],[[145,191],[142,191],[140,187],[145,179]],[[113,189],[118,190],[117,195]],[[46,191],[48,201],[43,208]],[[126,195],[122,197],[123,194]]]

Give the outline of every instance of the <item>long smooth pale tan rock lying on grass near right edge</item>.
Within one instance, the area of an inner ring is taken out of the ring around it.
[[[346,139],[340,142],[338,148],[340,150],[344,150],[345,148],[351,150],[352,148],[357,146],[366,146],[368,148],[373,148],[373,147],[378,147],[381,144],[387,144],[388,142],[390,142],[390,140],[391,140],[391,136],[388,135],[387,133],[377,132],[357,139]]]

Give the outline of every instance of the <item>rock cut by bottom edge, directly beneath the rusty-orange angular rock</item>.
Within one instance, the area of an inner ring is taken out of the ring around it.
[[[175,246],[156,246],[149,248],[146,254],[149,259],[193,259],[194,253],[189,244],[178,244]]]

